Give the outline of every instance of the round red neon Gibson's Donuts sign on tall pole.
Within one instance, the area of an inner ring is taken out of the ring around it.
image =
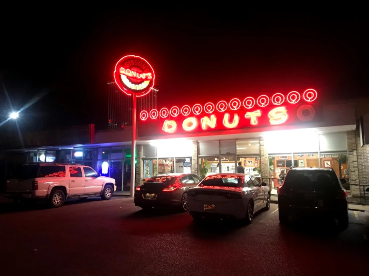
[[[119,89],[128,96],[142,97],[154,87],[154,69],[140,56],[128,55],[119,59],[113,75]]]

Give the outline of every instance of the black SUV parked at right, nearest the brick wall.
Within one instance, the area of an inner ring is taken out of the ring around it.
[[[349,225],[347,192],[332,168],[291,167],[278,189],[278,208],[281,223],[291,214],[312,214],[337,218],[342,230]]]

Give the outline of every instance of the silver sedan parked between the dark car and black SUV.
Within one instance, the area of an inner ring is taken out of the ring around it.
[[[187,206],[194,220],[233,217],[250,224],[257,211],[269,210],[270,190],[253,176],[217,173],[188,190]]]

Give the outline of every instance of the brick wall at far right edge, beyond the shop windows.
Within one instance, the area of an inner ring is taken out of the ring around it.
[[[365,188],[367,188],[369,186],[369,145],[365,144],[361,146],[359,130],[355,131],[355,138],[356,138],[356,151],[359,171],[359,183],[361,185],[365,185]],[[361,187],[360,193],[364,195],[363,187]]]

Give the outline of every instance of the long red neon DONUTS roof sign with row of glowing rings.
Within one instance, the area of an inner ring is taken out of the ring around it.
[[[291,91],[286,95],[276,93],[270,98],[266,95],[257,98],[248,96],[242,101],[233,98],[217,104],[208,102],[192,107],[162,108],[159,112],[156,109],[141,111],[140,119],[142,122],[158,120],[163,133],[168,134],[303,123],[316,121],[317,111],[313,105],[317,97],[314,89],[307,89],[304,93]],[[154,133],[154,127],[158,130],[157,124],[145,124],[145,133]]]

